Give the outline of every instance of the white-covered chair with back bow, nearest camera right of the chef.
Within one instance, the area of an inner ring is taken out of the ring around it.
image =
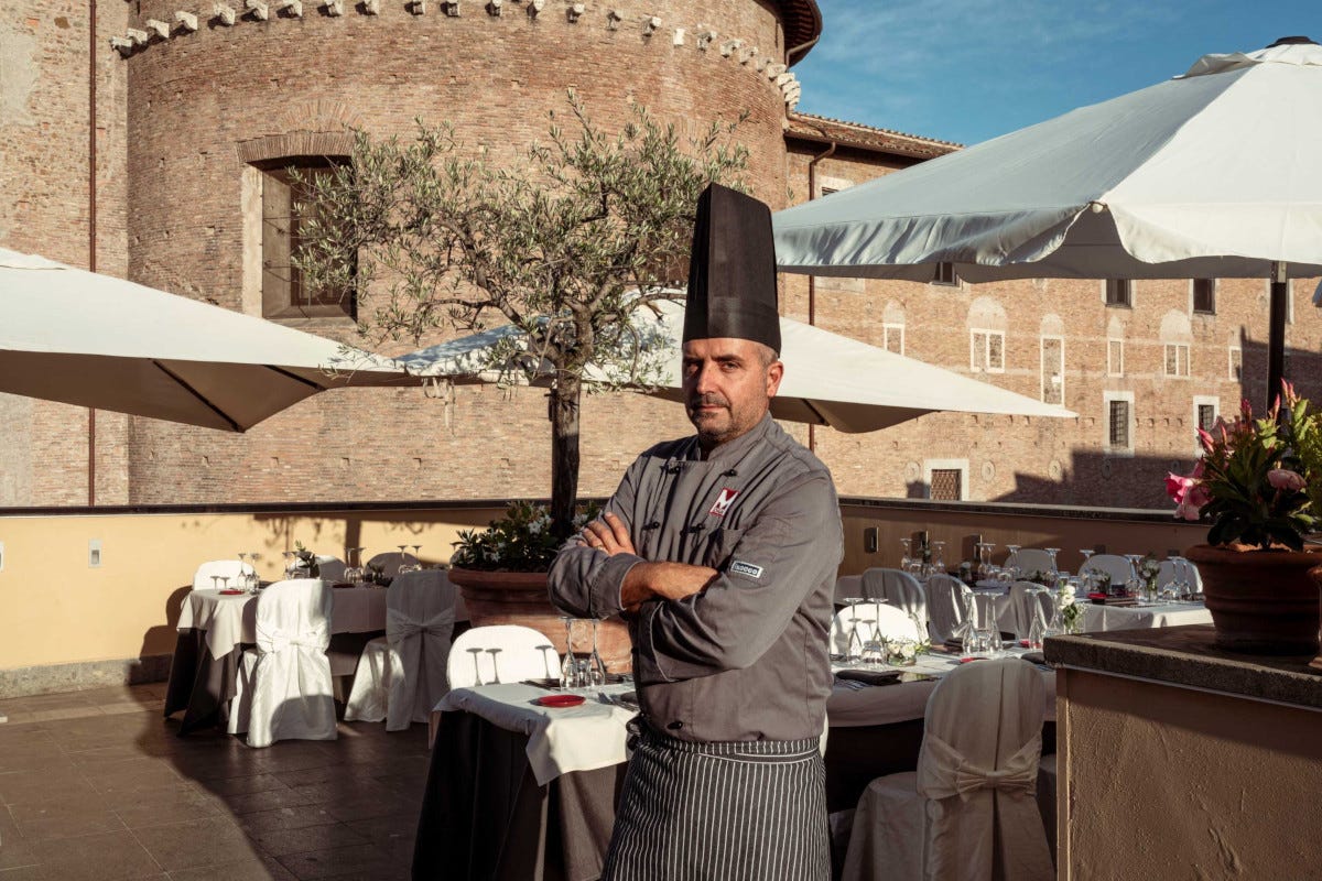
[[[1017,658],[951,672],[927,704],[917,770],[873,781],[842,878],[1050,881],[1035,798],[1046,700]]]

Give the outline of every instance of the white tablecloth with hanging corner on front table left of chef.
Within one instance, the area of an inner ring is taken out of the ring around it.
[[[636,711],[603,703],[598,697],[603,691],[629,692],[633,686],[594,688],[583,692],[587,700],[578,707],[559,709],[533,703],[553,693],[535,686],[456,688],[440,699],[434,712],[461,709],[505,730],[527,734],[527,763],[538,786],[546,786],[561,774],[609,767],[628,758],[624,725]]]

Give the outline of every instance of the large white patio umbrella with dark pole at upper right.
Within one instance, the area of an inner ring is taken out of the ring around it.
[[[1322,46],[1289,37],[773,215],[781,271],[927,281],[1322,275]]]

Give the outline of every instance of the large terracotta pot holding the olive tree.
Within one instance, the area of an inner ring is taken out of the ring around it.
[[[545,572],[451,569],[448,575],[464,594],[472,626],[517,623],[531,627],[546,634],[555,651],[564,654],[564,623],[546,592]],[[633,642],[620,618],[607,618],[598,625],[596,646],[611,672],[633,668]],[[592,629],[587,623],[574,626],[574,651],[592,651]]]

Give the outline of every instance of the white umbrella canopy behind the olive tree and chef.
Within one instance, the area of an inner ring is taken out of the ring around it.
[[[649,391],[682,400],[681,338],[683,304],[658,301],[656,317],[639,310],[636,324],[664,347],[661,376]],[[969,376],[876,349],[820,328],[780,320],[785,378],[772,400],[776,419],[830,425],[841,432],[871,432],[935,411],[1014,413],[1071,417],[1062,407],[1044,404]],[[497,382],[508,370],[490,366],[490,353],[505,339],[518,339],[513,326],[496,328],[453,342],[431,346],[399,361],[423,376],[455,382]],[[549,372],[549,366],[547,366]],[[608,379],[598,375],[596,379]]]

